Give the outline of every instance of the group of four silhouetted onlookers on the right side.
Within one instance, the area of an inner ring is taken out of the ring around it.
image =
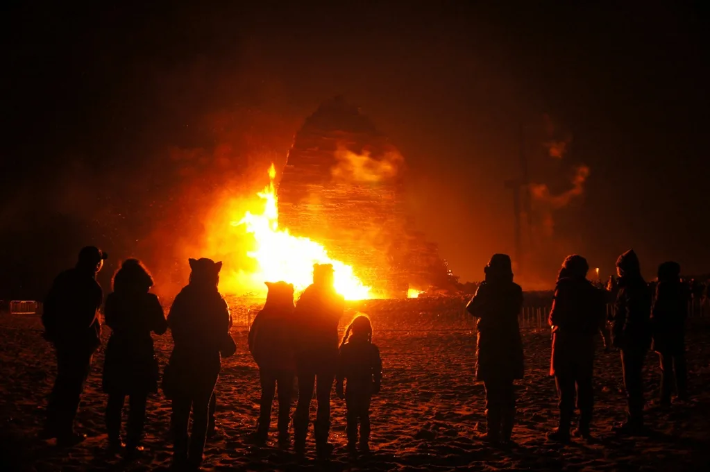
[[[559,424],[547,437],[567,442],[574,437],[590,439],[594,412],[594,355],[599,332],[621,351],[627,419],[614,430],[621,434],[645,432],[643,379],[641,371],[649,348],[660,357],[662,372],[660,405],[670,406],[673,391],[687,400],[685,366],[685,318],[687,285],[680,279],[680,266],[667,262],[658,268],[655,294],[641,276],[633,251],[616,261],[618,279],[608,291],[587,280],[589,265],[581,256],[562,263],[548,322],[552,328],[550,375],[555,377],[559,397]],[[608,294],[614,296],[611,319],[607,319]],[[487,432],[484,439],[510,442],[515,415],[513,381],[523,378],[523,344],[518,313],[522,290],[513,282],[510,258],[496,254],[486,266],[486,280],[468,305],[479,319],[476,376],[486,387]],[[579,423],[572,429],[575,407]]]

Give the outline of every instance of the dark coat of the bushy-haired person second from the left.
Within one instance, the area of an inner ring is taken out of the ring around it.
[[[111,328],[102,379],[104,392],[157,392],[158,361],[151,331],[164,334],[168,330],[158,297],[148,292],[114,292],[107,297],[104,311]]]

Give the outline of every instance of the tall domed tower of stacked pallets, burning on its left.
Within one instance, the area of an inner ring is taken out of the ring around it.
[[[406,296],[446,276],[437,246],[405,214],[398,150],[340,97],[296,134],[278,207],[280,227],[322,243],[380,295]]]

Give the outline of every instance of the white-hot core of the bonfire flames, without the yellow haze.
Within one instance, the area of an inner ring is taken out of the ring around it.
[[[258,192],[263,212],[246,212],[240,221],[231,222],[232,226],[244,226],[247,233],[253,235],[254,249],[247,253],[257,267],[249,274],[253,286],[264,287],[265,281],[284,280],[300,292],[313,280],[313,264],[332,264],[338,293],[347,300],[371,298],[371,288],[363,285],[350,265],[330,258],[321,244],[309,238],[293,236],[288,229],[278,229],[278,201],[273,186],[276,170],[273,164],[268,175],[268,186]]]

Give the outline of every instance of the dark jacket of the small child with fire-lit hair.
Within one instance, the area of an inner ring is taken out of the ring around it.
[[[377,346],[364,336],[353,336],[340,348],[337,383],[347,381],[346,396],[372,395],[382,383],[382,359]]]

